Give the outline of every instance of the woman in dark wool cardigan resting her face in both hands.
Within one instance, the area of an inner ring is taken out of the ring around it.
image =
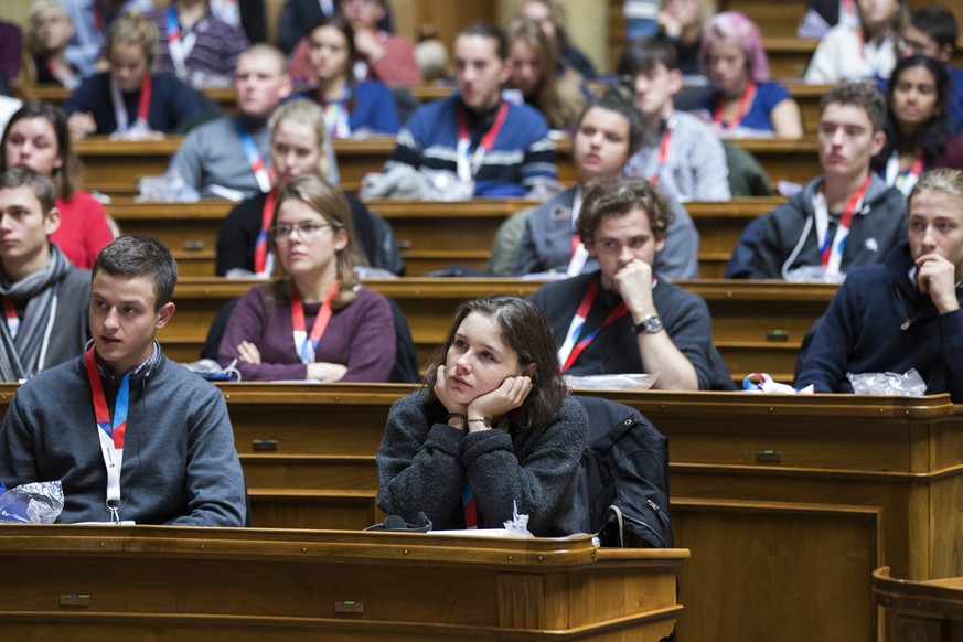
[[[443,529],[501,527],[517,504],[534,535],[569,535],[587,427],[545,313],[507,296],[463,303],[425,389],[388,413],[378,507]]]

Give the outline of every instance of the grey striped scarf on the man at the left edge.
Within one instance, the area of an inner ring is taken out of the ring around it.
[[[0,297],[10,298],[14,303],[26,300],[26,311],[15,338],[6,322],[0,323],[0,381],[15,382],[43,370],[57,310],[56,285],[71,267],[71,261],[54,244],[50,245],[46,267],[17,282],[10,282],[0,266]]]

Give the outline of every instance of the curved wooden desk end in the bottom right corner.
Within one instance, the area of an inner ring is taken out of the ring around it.
[[[895,640],[963,640],[963,577],[910,581],[891,577],[884,566],[873,573],[873,593],[889,612]]]

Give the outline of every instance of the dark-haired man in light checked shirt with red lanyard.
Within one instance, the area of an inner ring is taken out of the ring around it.
[[[680,201],[730,200],[723,141],[711,127],[673,105],[682,88],[675,46],[662,39],[630,42],[619,57],[618,74],[632,78],[639,110],[652,132],[629,160],[627,175],[648,179]]]

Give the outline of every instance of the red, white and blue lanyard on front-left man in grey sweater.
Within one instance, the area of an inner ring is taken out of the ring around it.
[[[97,357],[94,346],[87,349],[84,356],[87,365],[87,378],[90,382],[90,394],[94,398],[94,418],[97,421],[97,435],[100,439],[100,453],[107,468],[107,510],[110,521],[120,523],[120,468],[124,463],[124,436],[127,432],[127,409],[130,403],[130,373],[120,379],[117,399],[114,402],[114,417],[107,407],[104,395],[104,384],[97,372]]]

